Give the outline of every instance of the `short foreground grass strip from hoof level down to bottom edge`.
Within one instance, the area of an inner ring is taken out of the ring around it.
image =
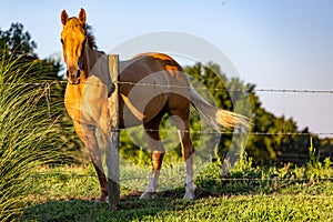
[[[184,201],[122,201],[118,211],[83,200],[48,201],[29,209],[27,221],[329,221],[332,199],[323,195],[235,195]],[[23,220],[23,221],[24,221]]]

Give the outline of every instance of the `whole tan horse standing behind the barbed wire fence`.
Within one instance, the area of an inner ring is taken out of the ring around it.
[[[108,148],[110,114],[108,98],[114,90],[108,68],[108,56],[99,51],[85,10],[78,17],[61,12],[61,43],[67,67],[65,109],[73,127],[89,151],[100,182],[99,201],[108,199],[108,181],[102,168],[95,130],[100,130]],[[120,129],[143,124],[151,150],[152,171],[140,199],[150,199],[157,191],[164,148],[159,127],[164,114],[172,117],[181,131],[182,158],[186,167],[184,199],[194,199],[193,153],[190,138],[191,105],[215,130],[248,125],[249,119],[209,104],[191,85],[183,68],[170,56],[141,53],[119,63]],[[108,158],[108,157],[107,157]]]

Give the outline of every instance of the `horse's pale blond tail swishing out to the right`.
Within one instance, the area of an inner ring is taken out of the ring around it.
[[[199,112],[200,117],[218,132],[221,132],[223,128],[246,128],[250,124],[249,118],[242,114],[209,104],[193,88],[191,88],[191,104]]]

